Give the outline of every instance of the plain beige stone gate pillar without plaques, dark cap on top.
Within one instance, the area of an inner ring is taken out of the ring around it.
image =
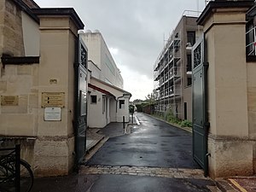
[[[253,174],[248,125],[246,13],[253,1],[214,1],[199,17],[208,69],[210,177]]]

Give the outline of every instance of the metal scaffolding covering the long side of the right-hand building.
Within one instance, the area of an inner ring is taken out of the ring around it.
[[[154,64],[154,90],[157,90],[159,113],[172,113],[180,118],[177,111],[177,100],[182,97],[181,38],[178,32],[172,32],[164,49]]]

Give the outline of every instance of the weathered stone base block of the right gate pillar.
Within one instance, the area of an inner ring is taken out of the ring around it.
[[[253,175],[253,143],[244,138],[209,138],[209,173],[215,177]]]

